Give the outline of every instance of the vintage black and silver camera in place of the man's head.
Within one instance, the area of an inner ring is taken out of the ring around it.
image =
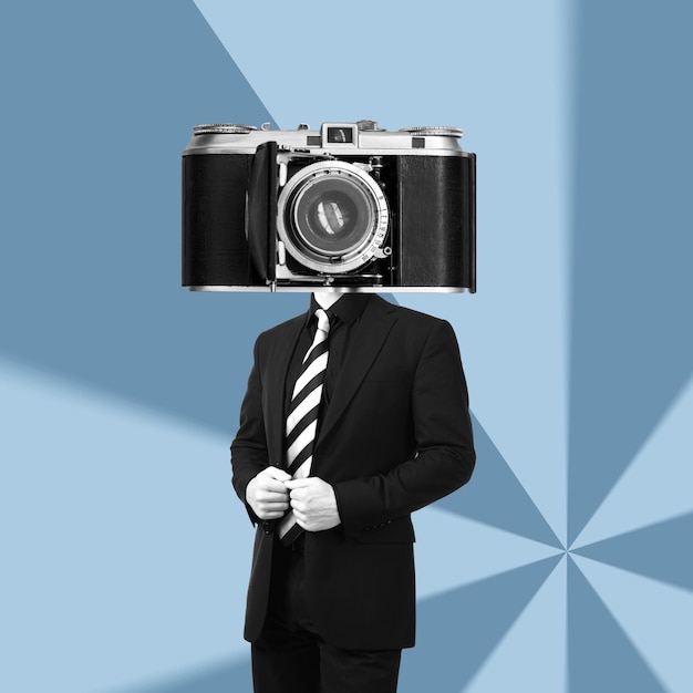
[[[476,156],[455,127],[199,125],[183,153],[192,290],[476,290]]]

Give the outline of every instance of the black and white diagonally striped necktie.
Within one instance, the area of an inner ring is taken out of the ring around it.
[[[316,317],[318,329],[313,343],[303,358],[287,415],[287,470],[293,478],[304,478],[310,474],[322,387],[328,368],[330,320],[322,308],[316,311]],[[297,539],[302,531],[291,511],[282,518],[279,525],[279,538],[286,546]]]

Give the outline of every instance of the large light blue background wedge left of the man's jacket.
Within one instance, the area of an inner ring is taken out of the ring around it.
[[[245,655],[254,531],[227,437],[1,358],[0,382],[0,690],[117,690]]]

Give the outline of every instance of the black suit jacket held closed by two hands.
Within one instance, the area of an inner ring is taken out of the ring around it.
[[[289,320],[256,342],[231,444],[234,486],[244,501],[248,482],[282,458],[287,368],[304,320]],[[414,644],[415,617],[411,513],[469,479],[467,387],[447,322],[373,297],[354,329],[313,452],[311,475],[333,486],[342,524],[306,532],[308,608],[335,647],[406,648]],[[267,612],[275,540],[257,524],[250,641]]]

